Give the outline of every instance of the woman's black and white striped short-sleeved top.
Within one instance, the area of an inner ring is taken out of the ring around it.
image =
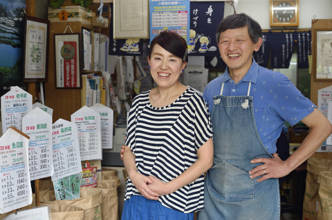
[[[174,103],[155,108],[149,102],[149,91],[138,94],[129,112],[126,145],[136,156],[140,174],[154,176],[167,183],[197,161],[197,150],[212,137],[208,106],[191,88]],[[127,179],[124,200],[140,195]],[[190,213],[203,210],[204,175],[159,197],[167,208]]]

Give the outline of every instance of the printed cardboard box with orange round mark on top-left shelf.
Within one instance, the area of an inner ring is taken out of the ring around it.
[[[48,8],[50,22],[80,21],[91,25],[93,14],[89,9],[81,6],[64,6],[62,8]]]

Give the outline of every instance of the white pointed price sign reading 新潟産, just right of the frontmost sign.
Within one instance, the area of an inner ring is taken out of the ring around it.
[[[30,180],[52,176],[52,116],[36,107],[23,117],[22,132],[30,137]]]

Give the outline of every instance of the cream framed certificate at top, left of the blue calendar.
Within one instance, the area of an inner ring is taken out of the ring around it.
[[[113,8],[113,39],[149,38],[149,0],[114,0]]]

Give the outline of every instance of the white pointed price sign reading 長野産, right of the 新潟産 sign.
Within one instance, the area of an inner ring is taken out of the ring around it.
[[[52,128],[54,166],[52,181],[82,172],[75,123],[59,119],[53,123]]]

